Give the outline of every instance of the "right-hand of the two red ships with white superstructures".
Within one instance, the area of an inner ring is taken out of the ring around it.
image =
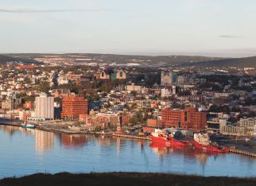
[[[196,149],[216,153],[229,153],[229,149],[227,147],[220,146],[218,144],[211,144],[208,134],[194,134],[194,139],[191,140],[191,143]]]

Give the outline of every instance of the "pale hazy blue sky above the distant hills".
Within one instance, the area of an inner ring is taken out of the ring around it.
[[[1,0],[0,53],[256,56],[255,0]]]

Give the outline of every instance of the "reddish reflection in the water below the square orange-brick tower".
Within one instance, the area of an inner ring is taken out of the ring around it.
[[[86,144],[86,135],[84,134],[61,134],[60,142],[65,146],[82,146]]]

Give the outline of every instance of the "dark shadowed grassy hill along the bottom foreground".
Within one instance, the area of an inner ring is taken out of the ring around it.
[[[255,178],[232,178],[232,177],[203,177],[203,176],[180,176],[164,173],[136,173],[136,172],[110,172],[110,173],[88,173],[88,174],[34,174],[21,178],[5,178],[0,180],[2,185],[26,185],[26,186],[76,186],[76,185],[111,185],[111,186],[130,186],[130,185],[198,185],[198,186],[253,186],[256,185]]]

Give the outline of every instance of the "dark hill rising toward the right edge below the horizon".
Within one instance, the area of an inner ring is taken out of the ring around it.
[[[182,64],[182,65],[194,65],[198,67],[256,68],[256,56],[223,59],[223,60],[211,60],[211,61],[198,62],[196,64]]]

